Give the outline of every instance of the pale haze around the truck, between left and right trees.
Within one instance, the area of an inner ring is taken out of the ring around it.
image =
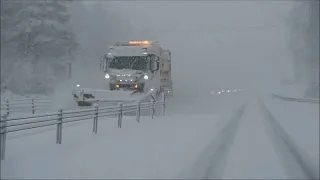
[[[175,96],[205,98],[219,88],[271,91],[292,77],[290,1],[82,2],[84,12],[74,5],[74,14],[83,50],[70,89],[105,88],[99,58],[114,41],[129,39],[158,40],[171,50]]]

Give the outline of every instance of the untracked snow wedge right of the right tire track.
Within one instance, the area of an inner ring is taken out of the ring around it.
[[[286,133],[319,169],[319,104],[270,97],[264,101]]]

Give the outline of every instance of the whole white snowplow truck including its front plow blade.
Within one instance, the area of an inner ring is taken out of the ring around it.
[[[100,59],[106,88],[78,89],[78,105],[93,101],[132,102],[172,94],[171,52],[157,41],[115,42]],[[101,100],[101,98],[103,100]]]

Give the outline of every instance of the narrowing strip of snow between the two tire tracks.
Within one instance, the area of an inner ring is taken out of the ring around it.
[[[285,179],[269,139],[256,100],[247,105],[233,147],[227,158],[224,179]]]

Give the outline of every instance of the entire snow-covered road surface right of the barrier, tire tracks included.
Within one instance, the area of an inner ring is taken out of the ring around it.
[[[54,129],[11,139],[1,177],[317,178],[319,105],[259,100],[233,94],[194,106],[172,101],[168,116],[140,123],[125,117],[121,129],[115,119],[101,120],[97,135],[91,121],[64,127],[61,145]]]

